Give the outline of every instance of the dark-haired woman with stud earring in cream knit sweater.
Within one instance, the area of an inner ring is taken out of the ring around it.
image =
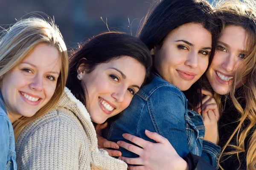
[[[125,162],[98,149],[93,123],[130,104],[151,63],[148,48],[127,34],[108,32],[84,43],[70,58],[69,89],[20,133],[18,169],[126,170]]]

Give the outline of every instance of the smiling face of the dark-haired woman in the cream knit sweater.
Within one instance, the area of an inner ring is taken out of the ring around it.
[[[79,69],[81,73],[83,68]],[[145,74],[145,67],[128,56],[102,63],[85,73],[81,84],[87,90],[86,108],[92,121],[101,124],[127,108]]]

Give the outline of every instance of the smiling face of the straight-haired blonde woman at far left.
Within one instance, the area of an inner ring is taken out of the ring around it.
[[[61,58],[55,47],[37,45],[1,81],[7,112],[16,119],[31,117],[49,102],[61,71]]]

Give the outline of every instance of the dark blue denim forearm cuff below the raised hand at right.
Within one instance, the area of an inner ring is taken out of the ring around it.
[[[206,140],[203,141],[203,152],[201,157],[215,167],[216,170],[218,169],[217,161],[220,153],[220,146]]]

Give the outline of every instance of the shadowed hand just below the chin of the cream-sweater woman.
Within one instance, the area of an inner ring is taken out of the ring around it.
[[[102,137],[102,130],[108,127],[108,122],[105,122],[104,124],[97,124],[96,125],[96,133],[97,133],[97,139],[98,139],[98,147],[106,150],[110,156],[122,156],[122,153],[119,150],[111,150],[108,148],[115,148],[119,149],[118,144],[115,142],[108,141],[107,139]]]

